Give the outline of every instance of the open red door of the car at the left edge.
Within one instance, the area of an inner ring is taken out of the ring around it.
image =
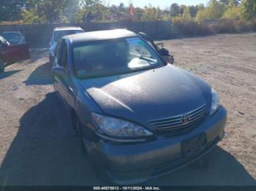
[[[6,63],[23,61],[30,58],[28,44],[15,44],[4,47],[1,54]]]

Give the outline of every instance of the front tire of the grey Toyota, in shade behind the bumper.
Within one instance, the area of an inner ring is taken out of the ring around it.
[[[71,112],[71,122],[72,122],[72,130],[79,136],[80,145],[82,148],[82,152],[84,155],[87,155],[86,147],[83,144],[83,135],[82,135],[82,125],[78,118],[78,115],[75,112]]]

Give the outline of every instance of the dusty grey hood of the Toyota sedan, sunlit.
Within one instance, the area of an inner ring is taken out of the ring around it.
[[[158,69],[78,82],[105,114],[146,124],[211,103],[211,87],[168,64]]]

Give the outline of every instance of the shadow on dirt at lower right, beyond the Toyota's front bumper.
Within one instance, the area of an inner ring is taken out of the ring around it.
[[[205,165],[200,165],[197,160],[185,168],[152,179],[146,184],[256,186],[256,180],[246,171],[244,166],[230,153],[218,146],[203,157],[203,161],[206,163]]]

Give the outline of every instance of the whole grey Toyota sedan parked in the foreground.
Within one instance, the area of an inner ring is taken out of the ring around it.
[[[145,37],[145,36],[144,36]],[[226,110],[206,82],[127,30],[64,36],[54,88],[96,173],[116,184],[166,174],[224,137]]]

